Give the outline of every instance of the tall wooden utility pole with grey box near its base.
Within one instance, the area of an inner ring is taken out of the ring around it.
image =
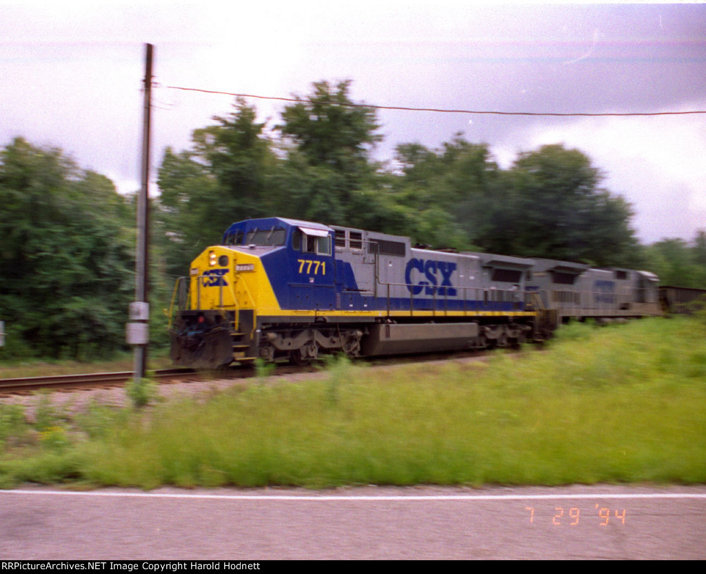
[[[135,301],[130,304],[127,341],[134,345],[134,377],[137,385],[145,376],[149,340],[150,305],[148,304],[149,182],[150,182],[150,112],[152,107],[152,44],[145,44],[145,88],[142,134],[142,186],[137,202],[137,256],[135,263]]]

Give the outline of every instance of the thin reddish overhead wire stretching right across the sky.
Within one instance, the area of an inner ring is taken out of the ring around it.
[[[277,100],[280,102],[307,102],[315,103],[312,100],[306,100],[305,98],[294,98],[294,97],[277,97],[277,96],[263,96],[254,94],[236,94],[233,92],[219,92],[216,90],[201,90],[199,88],[181,88],[177,85],[168,85],[166,88],[170,90],[183,90],[185,92],[203,92],[205,94],[220,94],[229,95],[234,97],[253,97],[258,100]],[[402,112],[437,112],[441,114],[478,114],[478,115],[496,115],[496,116],[558,116],[558,117],[602,117],[602,116],[684,116],[688,114],[706,114],[706,110],[690,110],[687,112],[626,112],[626,113],[587,113],[587,112],[575,112],[562,114],[558,112],[497,112],[491,110],[477,110],[477,109],[440,109],[432,107],[402,107],[402,106],[376,106],[373,104],[352,104],[352,103],[340,103],[340,102],[329,102],[330,104],[345,106],[345,107],[364,107],[371,109],[395,109]]]

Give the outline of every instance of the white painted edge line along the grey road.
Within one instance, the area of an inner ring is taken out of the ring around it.
[[[287,494],[179,494],[160,492],[96,492],[96,491],[35,491],[35,490],[0,490],[3,494],[25,494],[33,496],[94,496],[94,497],[118,497],[118,498],[193,498],[196,500],[233,500],[233,501],[353,501],[353,502],[409,502],[409,501],[528,501],[528,500],[557,500],[560,498],[594,499],[594,498],[696,498],[706,499],[706,494],[697,493],[655,493],[655,494],[449,494],[449,495],[429,495],[429,496],[337,496],[337,495],[287,495]]]

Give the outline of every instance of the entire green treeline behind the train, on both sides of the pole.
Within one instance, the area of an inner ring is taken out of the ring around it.
[[[589,157],[563,145],[501,169],[489,145],[455,134],[440,148],[397,146],[383,169],[373,109],[351,82],[316,82],[268,129],[236,100],[232,114],[167,148],[150,251],[152,342],[167,345],[172,277],[232,222],[280,215],[407,235],[436,248],[652,270],[662,285],[706,286],[706,232],[638,246],[632,211],[602,187]],[[92,359],[124,348],[133,298],[134,204],[56,148],[22,138],[0,151],[0,360]]]

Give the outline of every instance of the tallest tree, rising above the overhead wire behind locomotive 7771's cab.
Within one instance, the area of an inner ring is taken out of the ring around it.
[[[314,83],[309,98],[282,112],[286,158],[270,181],[278,213],[352,227],[384,219],[385,189],[369,157],[382,136],[374,110],[352,102],[349,87]]]

